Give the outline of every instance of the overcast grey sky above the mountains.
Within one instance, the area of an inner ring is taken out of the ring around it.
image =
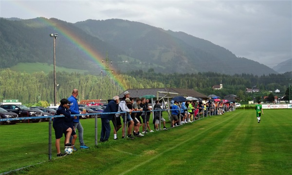
[[[0,17],[127,19],[209,40],[269,67],[292,58],[291,0],[0,0]]]

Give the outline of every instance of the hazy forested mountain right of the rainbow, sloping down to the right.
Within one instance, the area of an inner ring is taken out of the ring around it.
[[[92,36],[121,48],[127,56],[139,59],[141,63],[150,64],[145,68],[153,68],[156,72],[161,72],[161,70],[167,73],[211,71],[223,74],[254,75],[276,73],[263,64],[247,58],[237,58],[223,47],[183,32],[165,31],[144,23],[122,19],[88,19],[76,22],[74,25]],[[129,62],[134,64],[137,62],[130,58],[120,57],[118,67],[122,70],[129,64],[122,60],[130,60]]]

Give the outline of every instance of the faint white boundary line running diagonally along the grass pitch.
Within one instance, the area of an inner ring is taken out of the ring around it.
[[[233,118],[233,117],[235,117],[235,116],[237,116],[237,114],[234,115],[234,116],[232,116],[232,117],[230,117],[230,118]],[[196,135],[196,136],[200,136],[201,134],[203,134],[203,133],[207,132],[208,130],[214,128],[215,126],[217,126],[217,125],[219,125],[219,124],[221,124],[221,123],[223,123],[223,122],[229,120],[230,118],[227,118],[226,120],[221,121],[220,123],[217,123],[217,124],[214,125],[213,127],[209,128],[209,129],[207,129],[207,130],[204,130],[203,132],[201,132],[199,135]],[[132,170],[134,170],[134,169],[136,169],[136,168],[138,168],[138,167],[140,167],[140,166],[142,166],[142,165],[144,165],[144,164],[146,164],[146,163],[152,161],[153,159],[156,159],[157,157],[162,156],[164,153],[166,153],[166,152],[168,152],[168,151],[170,151],[170,150],[173,150],[173,149],[175,149],[175,148],[181,146],[182,144],[184,144],[185,142],[187,142],[187,141],[193,139],[193,138],[196,137],[196,136],[192,136],[192,137],[188,138],[187,140],[184,140],[183,142],[177,144],[176,146],[173,146],[173,147],[171,147],[171,148],[165,150],[164,152],[162,152],[162,153],[160,153],[160,154],[158,154],[158,155],[156,155],[156,156],[154,156],[154,157],[152,157],[152,158],[149,158],[148,160],[146,160],[146,161],[144,161],[144,162],[142,162],[142,163],[140,163],[140,164],[138,164],[138,165],[136,165],[136,166],[134,166],[134,167],[128,169],[127,171],[124,171],[123,173],[120,173],[119,175],[125,175],[126,173],[128,173],[128,172],[130,172],[130,171],[132,171]]]

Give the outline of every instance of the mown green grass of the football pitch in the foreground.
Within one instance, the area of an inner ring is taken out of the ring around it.
[[[121,139],[121,131],[113,140],[111,132],[97,147],[94,119],[83,119],[91,148],[57,158],[53,132],[52,161],[48,122],[1,125],[0,173],[34,165],[17,174],[292,175],[292,110],[264,114],[257,123],[255,110],[237,110],[134,140]]]

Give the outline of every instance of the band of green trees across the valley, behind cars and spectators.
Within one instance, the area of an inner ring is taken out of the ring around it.
[[[110,99],[121,94],[126,89],[140,88],[184,88],[194,89],[206,96],[215,94],[220,97],[237,95],[242,100],[251,100],[253,97],[268,96],[269,91],[276,89],[284,96],[291,82],[292,72],[272,74],[268,76],[254,76],[251,74],[225,75],[213,72],[198,74],[162,74],[148,71],[131,71],[127,74],[115,75],[114,79],[108,76],[95,76],[80,73],[56,73],[56,101],[69,97],[72,90],[79,90],[78,98],[82,99]],[[122,84],[121,87],[119,84]],[[223,89],[214,90],[214,85],[223,84]],[[259,93],[245,93],[246,88],[256,86]],[[37,103],[48,101],[54,103],[54,73],[33,74],[20,73],[10,69],[0,69],[0,100],[18,99],[22,103]]]

